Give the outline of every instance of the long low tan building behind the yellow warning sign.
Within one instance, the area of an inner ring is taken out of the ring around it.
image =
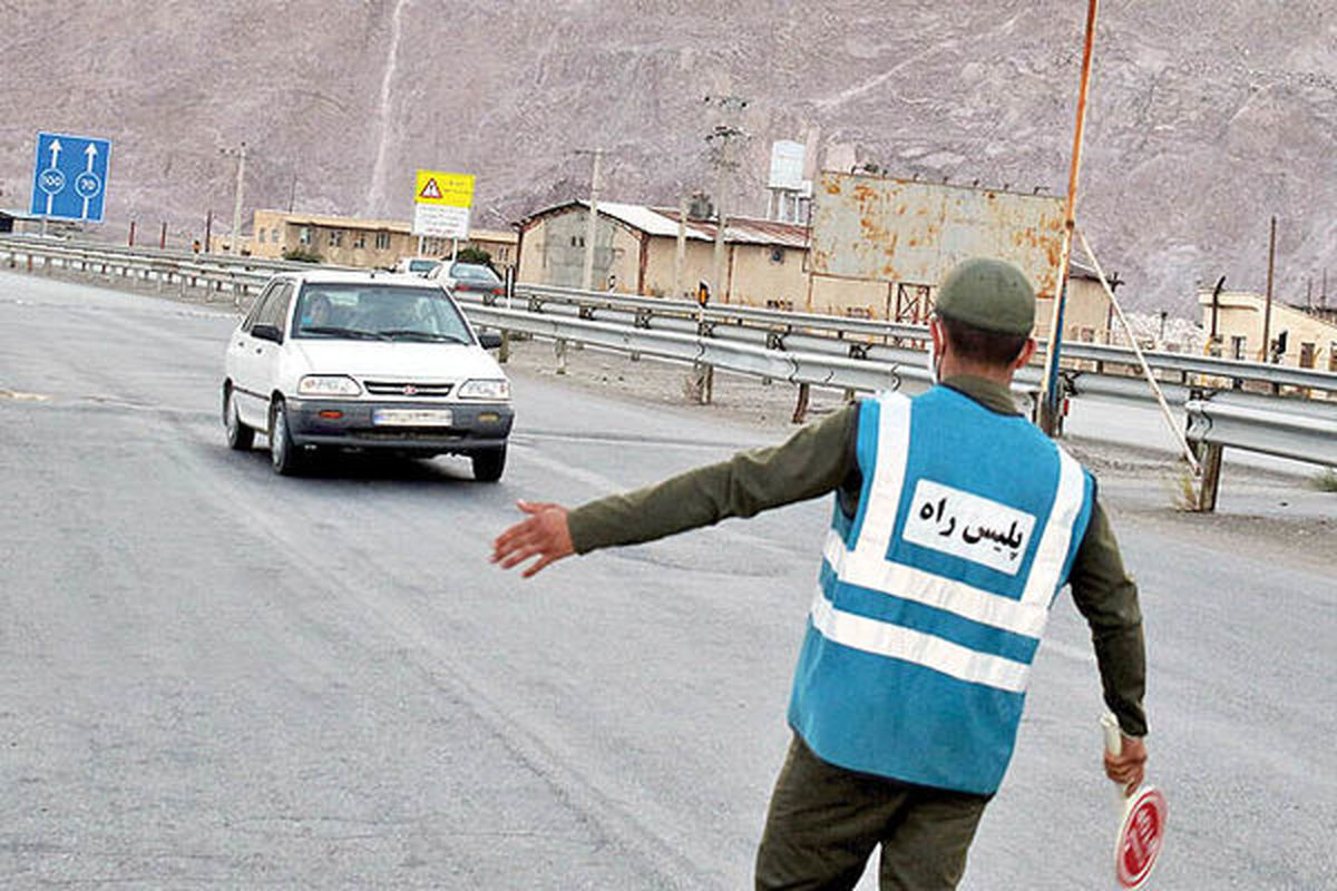
[[[418,254],[418,236],[406,220],[362,219],[356,216],[324,216],[320,214],[291,214],[257,210],[251,220],[251,236],[242,251],[265,259],[282,259],[285,252],[314,252],[326,263],[337,266],[364,266],[389,269],[401,256]],[[229,239],[215,238],[214,243]],[[499,270],[513,266],[516,234],[476,228],[469,231],[460,248],[479,247],[492,256]],[[425,256],[449,256],[451,239],[422,239]]]

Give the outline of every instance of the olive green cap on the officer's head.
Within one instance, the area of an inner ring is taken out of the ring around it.
[[[1003,260],[961,260],[937,290],[939,315],[995,334],[1028,335],[1035,327],[1035,289]]]

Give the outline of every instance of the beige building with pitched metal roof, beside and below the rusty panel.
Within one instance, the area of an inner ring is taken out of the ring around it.
[[[588,202],[544,208],[520,224],[516,281],[580,287]],[[682,271],[675,277],[678,210],[599,202],[595,226],[594,287],[650,297],[691,297],[714,270],[715,223],[689,215],[683,228]],[[924,322],[933,306],[933,287],[884,281],[813,275],[809,230],[796,223],[730,216],[725,228],[723,294],[713,299],[848,318]],[[1095,273],[1074,263],[1064,318],[1067,337],[1108,339],[1111,307]],[[1052,302],[1042,301],[1040,331],[1047,333]]]

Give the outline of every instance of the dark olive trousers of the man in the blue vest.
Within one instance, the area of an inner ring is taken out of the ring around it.
[[[951,891],[991,797],[846,771],[796,735],[757,851],[757,891],[853,888],[878,844],[881,891]]]

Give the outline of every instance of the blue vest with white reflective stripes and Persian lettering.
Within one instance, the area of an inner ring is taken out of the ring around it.
[[[857,435],[858,510],[836,505],[789,723],[828,763],[992,793],[1092,480],[943,386],[862,402]]]

